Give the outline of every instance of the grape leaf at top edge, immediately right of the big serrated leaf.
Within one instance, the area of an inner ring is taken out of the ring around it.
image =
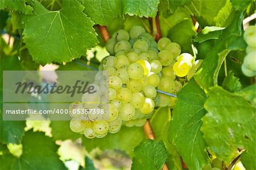
[[[112,20],[122,15],[122,1],[119,0],[81,0],[85,6],[84,12],[96,24],[107,25]]]

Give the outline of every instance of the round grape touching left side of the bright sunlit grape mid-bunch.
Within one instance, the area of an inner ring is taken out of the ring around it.
[[[134,80],[139,80],[143,77],[143,67],[138,63],[130,64],[127,72],[129,74],[130,78],[133,78]]]

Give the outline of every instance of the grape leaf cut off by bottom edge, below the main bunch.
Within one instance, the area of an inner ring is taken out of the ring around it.
[[[131,169],[162,169],[167,156],[162,141],[147,139],[134,149]]]

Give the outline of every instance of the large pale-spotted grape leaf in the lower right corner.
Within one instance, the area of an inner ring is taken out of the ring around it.
[[[213,87],[205,102],[201,131],[210,149],[225,161],[232,161],[237,148],[246,150],[241,160],[246,169],[255,169],[256,108],[245,98]],[[256,97],[256,96],[255,96]]]

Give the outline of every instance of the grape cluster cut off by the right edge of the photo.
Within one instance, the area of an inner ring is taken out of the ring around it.
[[[248,77],[256,76],[256,26],[249,26],[243,34],[248,44],[246,56],[242,64],[242,72]]]

